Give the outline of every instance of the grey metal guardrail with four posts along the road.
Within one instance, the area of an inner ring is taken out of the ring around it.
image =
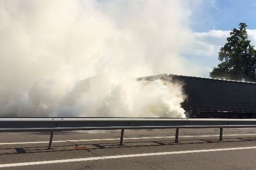
[[[176,128],[178,142],[180,128],[256,127],[256,119],[171,119],[171,118],[0,118],[0,132],[51,132],[49,147],[52,148],[54,131],[70,130],[121,130],[123,144],[125,129],[169,129]]]

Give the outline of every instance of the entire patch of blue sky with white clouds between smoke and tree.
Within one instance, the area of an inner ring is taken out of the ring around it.
[[[219,63],[219,49],[227,42],[230,30],[238,28],[239,23],[247,24],[249,40],[256,45],[256,0],[198,2],[190,9],[190,29],[194,36],[181,54],[204,69],[200,76],[209,77],[212,67]]]

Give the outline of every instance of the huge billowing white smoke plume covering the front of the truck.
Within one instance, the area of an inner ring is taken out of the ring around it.
[[[1,0],[0,116],[182,117],[180,85],[136,81],[192,74],[180,3]]]

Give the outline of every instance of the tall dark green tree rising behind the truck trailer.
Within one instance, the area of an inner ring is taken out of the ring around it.
[[[240,23],[227,38],[227,43],[221,47],[218,67],[210,72],[210,77],[256,82],[256,51],[250,45],[246,31],[247,25]]]

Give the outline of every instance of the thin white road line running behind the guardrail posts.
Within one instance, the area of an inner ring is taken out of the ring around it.
[[[223,135],[223,136],[255,136],[256,134],[232,134],[232,135]],[[191,138],[191,137],[214,137],[219,135],[202,135],[202,136],[179,136],[179,138]],[[161,139],[161,138],[175,138],[175,136],[156,136],[156,137],[140,137],[140,138],[124,138],[124,140],[132,140],[132,139]],[[111,141],[111,140],[120,140],[120,138],[112,138],[112,139],[81,139],[81,140],[66,140],[66,141],[52,141],[54,143],[60,142],[83,142],[83,141]],[[12,142],[12,143],[0,143],[0,145],[4,144],[38,144],[38,143],[49,143],[49,141],[41,141],[41,142]]]

